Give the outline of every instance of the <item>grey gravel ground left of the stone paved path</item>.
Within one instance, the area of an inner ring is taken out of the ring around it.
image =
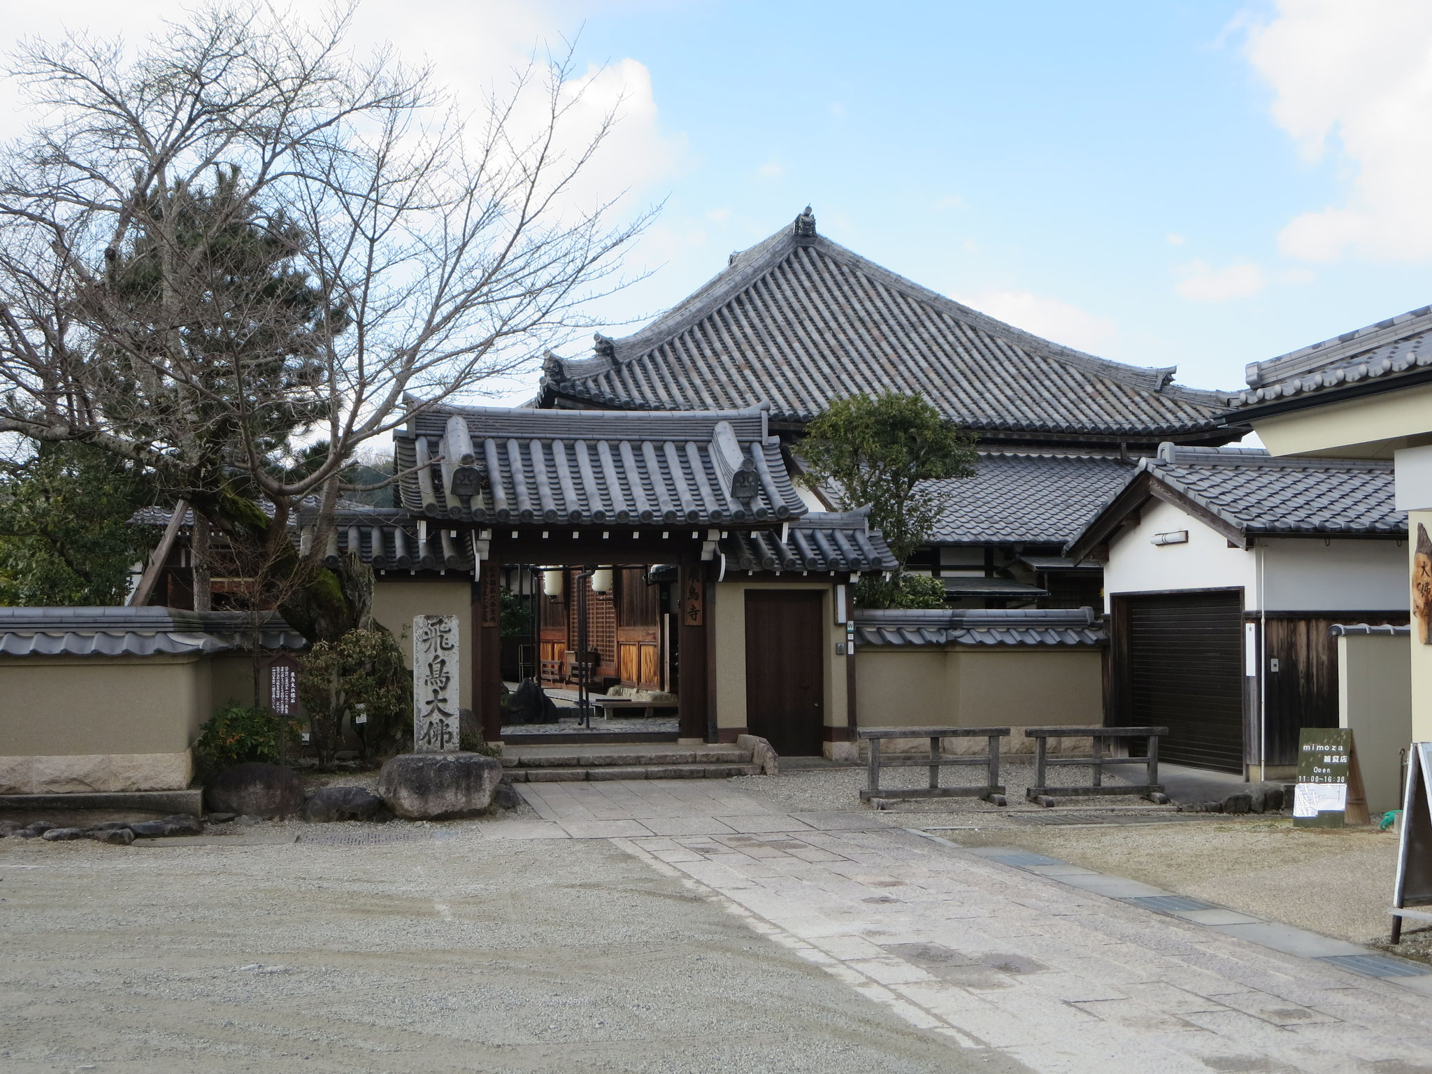
[[[484,823],[361,846],[0,841],[0,1068],[1022,1070],[912,1030],[606,841]]]

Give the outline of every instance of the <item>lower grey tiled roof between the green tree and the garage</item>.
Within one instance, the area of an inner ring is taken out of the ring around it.
[[[1064,544],[1134,467],[1071,454],[981,453],[974,477],[934,481],[949,497],[934,544]]]

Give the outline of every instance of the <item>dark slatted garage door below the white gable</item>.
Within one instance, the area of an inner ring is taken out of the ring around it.
[[[1166,726],[1158,758],[1243,770],[1243,599],[1127,597],[1126,726]]]

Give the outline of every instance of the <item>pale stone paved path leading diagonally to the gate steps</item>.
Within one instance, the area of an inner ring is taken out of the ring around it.
[[[613,839],[951,1048],[1040,1074],[1432,1071],[1428,977],[1363,977],[719,780],[520,789],[541,821],[493,835]]]

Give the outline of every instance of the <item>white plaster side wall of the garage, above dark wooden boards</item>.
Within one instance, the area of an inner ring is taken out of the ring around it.
[[[1259,538],[1263,554],[1262,604],[1270,611],[1395,611],[1408,604],[1406,541],[1317,537]]]

